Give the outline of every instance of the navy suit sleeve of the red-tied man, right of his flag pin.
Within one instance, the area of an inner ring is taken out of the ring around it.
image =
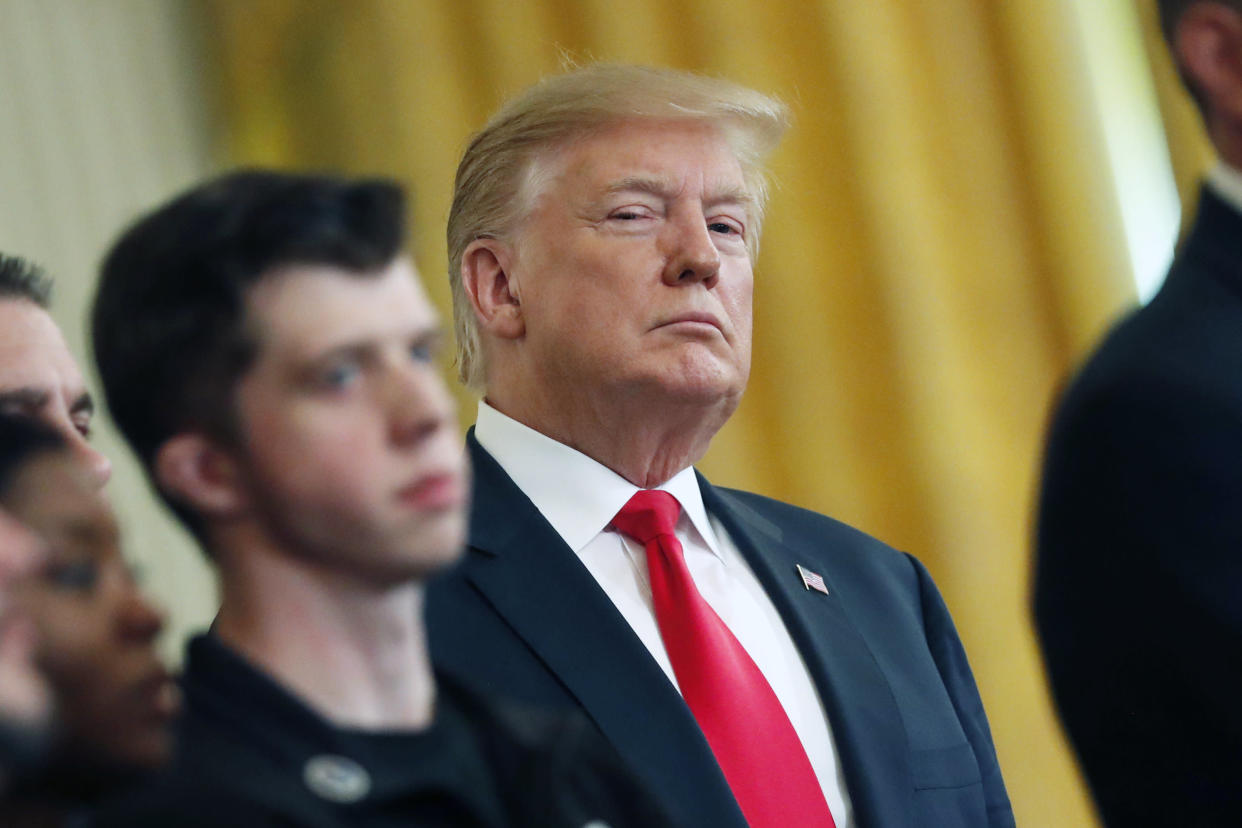
[[[919,600],[923,606],[923,628],[928,648],[975,754],[975,761],[979,762],[984,801],[987,806],[987,824],[992,828],[1013,828],[1013,808],[1005,791],[1005,781],[1001,778],[996,746],[992,744],[992,734],[987,726],[987,715],[984,713],[984,701],[979,698],[975,677],[966,662],[966,650],[961,646],[940,591],[932,582],[932,576],[917,559],[910,557],[910,561],[919,577]]]

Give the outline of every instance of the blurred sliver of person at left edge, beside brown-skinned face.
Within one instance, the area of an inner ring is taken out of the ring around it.
[[[52,690],[35,660],[35,622],[15,601],[42,559],[39,538],[0,509],[0,794],[37,763],[51,730]]]

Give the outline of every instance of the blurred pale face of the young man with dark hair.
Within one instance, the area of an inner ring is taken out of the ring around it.
[[[466,459],[433,361],[440,326],[409,259],[378,276],[291,266],[247,308],[260,346],[237,385],[238,466],[266,531],[373,583],[455,560]]]

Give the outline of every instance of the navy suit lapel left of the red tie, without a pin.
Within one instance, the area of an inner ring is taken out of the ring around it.
[[[474,505],[466,577],[666,803],[683,803],[693,824],[744,826],[681,694],[473,432],[467,444]]]

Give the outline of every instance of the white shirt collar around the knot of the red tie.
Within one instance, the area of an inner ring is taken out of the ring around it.
[[[638,487],[586,454],[501,413],[479,400],[474,439],[530,498],[574,552],[604,531]],[[656,487],[677,498],[694,530],[717,557],[720,550],[707,518],[694,468]]]

